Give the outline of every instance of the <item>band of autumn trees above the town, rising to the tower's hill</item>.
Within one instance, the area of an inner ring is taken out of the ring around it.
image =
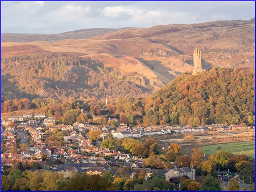
[[[163,89],[146,98],[117,97],[103,109],[105,98],[65,97],[14,98],[2,100],[2,113],[23,108],[37,108],[64,124],[92,122],[111,124],[109,117],[132,125],[247,124],[254,125],[254,69],[213,68],[205,73],[184,73]],[[79,109],[88,111],[81,114]],[[69,120],[68,120],[69,119]]]

